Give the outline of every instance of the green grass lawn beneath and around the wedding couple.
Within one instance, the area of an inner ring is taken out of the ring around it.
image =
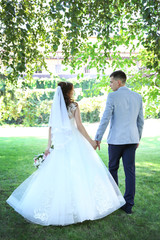
[[[0,239],[2,240],[159,240],[160,239],[160,137],[143,138],[136,154],[134,213],[117,210],[96,221],[66,227],[31,224],[5,201],[35,168],[33,157],[44,151],[47,139],[0,138]],[[97,151],[108,165],[107,144]],[[124,172],[119,169],[124,193]]]

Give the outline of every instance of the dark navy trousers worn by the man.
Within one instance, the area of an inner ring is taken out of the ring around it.
[[[135,195],[135,151],[137,144],[108,145],[109,171],[118,185],[118,168],[122,157],[125,172],[125,194],[126,203],[134,205]]]

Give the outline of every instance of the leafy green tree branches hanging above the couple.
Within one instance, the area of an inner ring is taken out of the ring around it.
[[[152,84],[159,90],[159,6],[157,0],[1,0],[0,51],[5,74],[12,82],[24,72],[32,76],[36,68],[47,67],[45,58],[61,45],[64,63],[73,69],[84,63],[96,67],[98,77],[106,63],[125,69],[141,60],[140,74],[148,79],[145,84],[150,86],[154,76]],[[95,33],[97,42],[90,43],[88,37]],[[120,46],[129,49],[129,59],[121,57]],[[137,48],[143,49],[145,61],[142,55],[132,55]]]

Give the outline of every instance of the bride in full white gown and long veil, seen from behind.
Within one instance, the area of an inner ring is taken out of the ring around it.
[[[49,119],[45,161],[7,199],[32,223],[69,225],[100,219],[125,204],[86,132],[73,84],[58,84]],[[51,144],[54,149],[51,150]]]

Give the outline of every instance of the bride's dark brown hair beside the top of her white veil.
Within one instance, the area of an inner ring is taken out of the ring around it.
[[[68,107],[71,103],[74,103],[74,99],[72,99],[69,94],[73,89],[73,84],[70,82],[59,82],[58,86],[61,87],[63,97],[66,103],[66,107]]]

